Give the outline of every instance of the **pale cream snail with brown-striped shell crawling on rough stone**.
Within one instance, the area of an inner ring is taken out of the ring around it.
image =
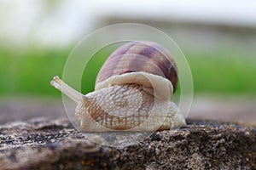
[[[186,123],[170,100],[177,88],[177,65],[156,42],[132,41],[114,50],[89,94],[59,77],[50,83],[78,104],[75,122],[85,132],[150,132]]]

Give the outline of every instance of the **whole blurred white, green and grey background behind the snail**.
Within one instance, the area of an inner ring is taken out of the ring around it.
[[[61,77],[77,42],[118,23],[153,26],[177,42],[194,81],[190,117],[255,123],[255,6],[253,0],[0,1],[0,123],[65,116],[61,93],[49,82]],[[121,34],[113,31],[96,42]],[[94,90],[97,72],[112,52],[95,54],[79,91]]]

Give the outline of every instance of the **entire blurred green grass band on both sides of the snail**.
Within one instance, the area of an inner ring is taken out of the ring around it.
[[[71,48],[8,50],[0,49],[0,95],[56,95],[49,85],[61,77]],[[111,51],[100,51],[84,71],[84,94],[94,88],[97,71]],[[256,59],[232,52],[185,53],[192,71],[195,93],[256,94]]]

